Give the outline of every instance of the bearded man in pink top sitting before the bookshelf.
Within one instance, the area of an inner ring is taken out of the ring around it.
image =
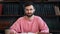
[[[41,17],[35,16],[35,7],[33,3],[27,2],[24,5],[24,16],[20,17],[11,27],[11,33],[36,33],[44,32],[49,33],[47,24],[42,20]]]

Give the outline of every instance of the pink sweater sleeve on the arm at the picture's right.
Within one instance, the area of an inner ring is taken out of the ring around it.
[[[49,28],[41,17],[38,18],[38,25],[40,32],[49,33]]]

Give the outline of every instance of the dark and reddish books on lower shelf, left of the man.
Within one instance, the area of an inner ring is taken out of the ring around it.
[[[18,17],[0,17],[0,30],[9,29]]]

